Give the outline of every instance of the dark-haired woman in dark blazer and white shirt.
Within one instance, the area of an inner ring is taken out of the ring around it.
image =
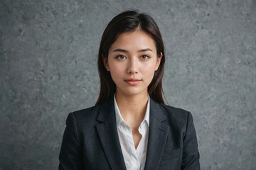
[[[125,11],[100,42],[100,95],[70,113],[59,169],[200,169],[191,113],[163,99],[164,44],[145,13]]]

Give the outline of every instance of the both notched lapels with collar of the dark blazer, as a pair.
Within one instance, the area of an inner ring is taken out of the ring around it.
[[[102,122],[96,129],[111,169],[126,169],[117,133],[113,98],[102,103],[97,120]],[[150,98],[149,142],[145,169],[158,169],[169,131],[169,126],[164,120],[166,115],[159,103]]]

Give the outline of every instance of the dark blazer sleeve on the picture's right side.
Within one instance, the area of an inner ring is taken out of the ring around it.
[[[200,170],[198,142],[191,113],[187,116],[186,133],[183,137],[183,158],[181,169]]]

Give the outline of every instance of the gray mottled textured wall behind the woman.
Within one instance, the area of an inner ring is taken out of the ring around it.
[[[0,170],[57,169],[68,113],[94,105],[110,19],[151,13],[169,105],[193,113],[202,169],[256,169],[256,1],[0,1]]]

